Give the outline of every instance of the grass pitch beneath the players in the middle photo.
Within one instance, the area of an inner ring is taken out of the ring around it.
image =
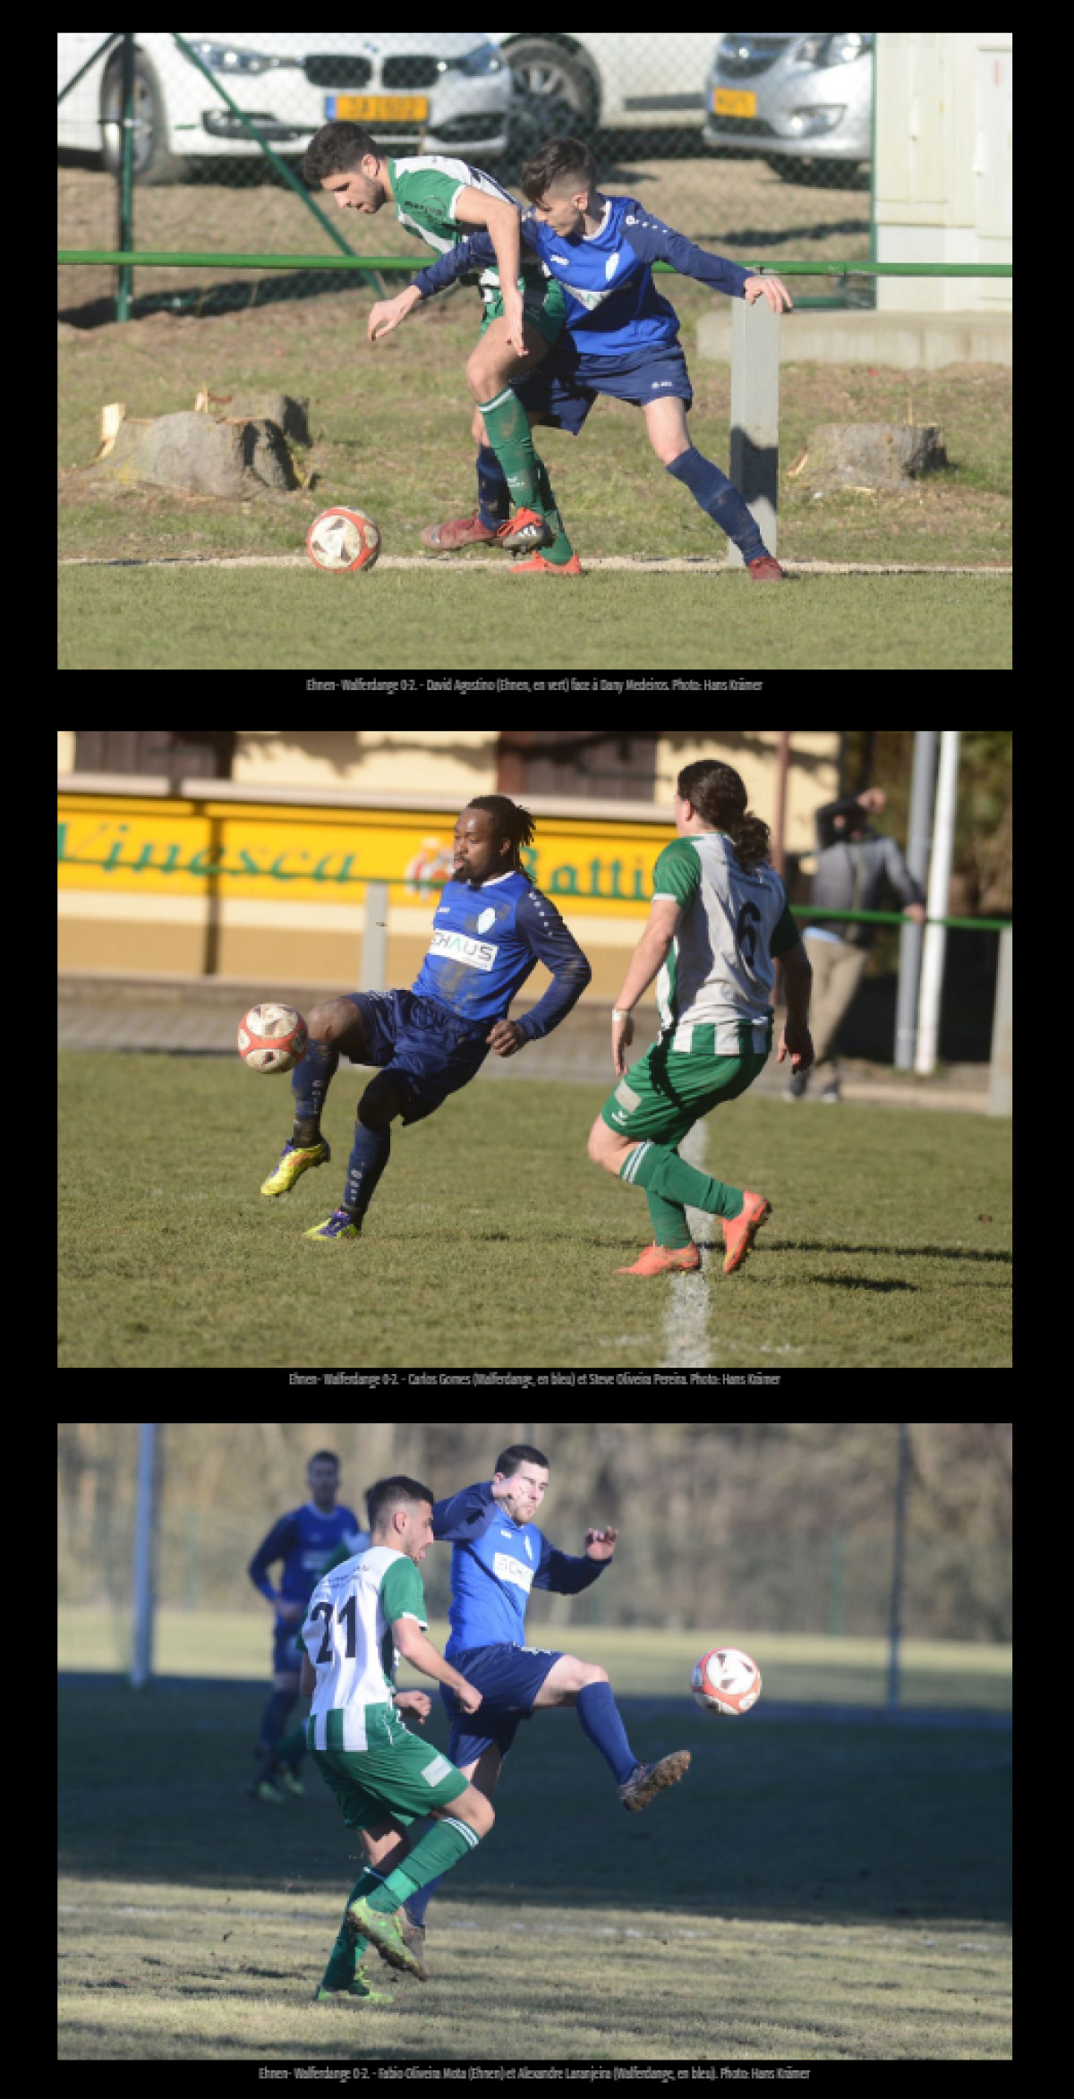
[[[478,1079],[394,1129],[357,1245],[304,1241],[340,1201],[365,1079],[334,1083],[331,1163],[268,1201],[285,1081],[237,1058],[63,1054],[61,1366],[667,1360],[673,1285],[613,1272],[652,1236],[644,1196],[585,1154],[604,1087]],[[736,1276],[713,1222],[707,1364],[1009,1364],[1009,1123],[747,1098],[705,1127],[705,1171],[774,1205]]]

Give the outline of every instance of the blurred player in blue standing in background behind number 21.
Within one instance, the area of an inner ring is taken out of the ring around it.
[[[298,1698],[302,1656],[296,1650],[296,1631],[306,1612],[308,1597],[334,1547],[346,1543],[352,1553],[359,1553],[367,1545],[367,1532],[361,1528],[355,1511],[336,1503],[340,1459],[334,1450],[313,1453],[306,1465],[306,1480],[310,1499],[273,1524],[250,1562],[250,1581],[275,1612],[273,1696],[262,1713],[256,1748],[258,1765],[250,1786],[254,1799],[266,1803],[283,1801],[283,1790],[302,1793],[298,1765],[304,1755],[304,1742],[298,1736],[287,1736],[283,1744],[283,1725]],[[268,1576],[268,1568],[277,1560],[283,1560],[279,1589],[273,1587]]]

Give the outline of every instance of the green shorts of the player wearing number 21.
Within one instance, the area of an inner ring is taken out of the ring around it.
[[[350,1830],[365,1830],[384,1816],[415,1822],[434,1807],[449,1807],[470,1780],[430,1742],[420,1742],[392,1706],[365,1706],[367,1748],[342,1748],[344,1713],[327,1715],[327,1748],[317,1748],[317,1721],[306,1723],[306,1748],[336,1795]]]

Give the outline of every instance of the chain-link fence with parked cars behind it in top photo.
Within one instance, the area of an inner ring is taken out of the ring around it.
[[[315,130],[348,118],[392,157],[459,157],[516,195],[543,139],[581,134],[602,185],[717,254],[873,254],[871,34],[63,31],[57,92],[63,250],[350,250],[420,269],[426,252],[390,208],[344,220],[298,174]],[[162,267],[136,275],[132,313],[220,313],[344,283],[361,275]],[[831,288],[797,304],[873,302],[871,279]],[[111,319],[113,302],[111,267],[61,269],[63,319]]]

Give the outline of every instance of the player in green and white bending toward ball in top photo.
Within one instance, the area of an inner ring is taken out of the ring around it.
[[[495,250],[495,267],[474,271],[466,281],[478,283],[485,298],[485,321],[466,365],[466,378],[476,407],[485,418],[495,472],[503,468],[514,514],[497,529],[497,544],[514,554],[541,552],[552,567],[579,573],[575,550],[562,529],[547,472],[533,449],[529,416],[514,397],[510,382],[531,372],[562,330],[566,302],[562,288],[527,252],[522,260],[520,210],[514,197],[480,168],[466,160],[420,153],[411,160],[390,160],[361,124],[334,120],[310,139],[302,174],[319,183],[340,210],[380,212],[394,204],[401,227],[426,241],[436,254],[447,254],[468,233],[485,227]],[[415,294],[399,294],[413,302]],[[369,313],[369,342],[394,327],[396,300],[378,300]],[[482,460],[478,451],[478,497]],[[495,474],[497,487],[501,487]],[[436,552],[489,539],[478,525],[478,512],[468,533],[457,521],[451,531],[434,529],[428,544]]]

